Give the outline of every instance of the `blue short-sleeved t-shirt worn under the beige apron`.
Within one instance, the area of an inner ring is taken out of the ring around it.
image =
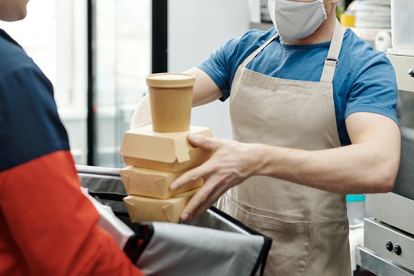
[[[249,30],[242,37],[226,42],[199,64],[220,88],[226,100],[230,97],[233,77],[239,65],[257,48],[276,34]],[[247,68],[271,77],[298,81],[320,81],[324,60],[331,41],[313,45],[292,45],[275,39],[259,52]],[[397,81],[395,70],[384,52],[376,52],[352,30],[344,33],[339,64],[333,79],[333,99],[339,140],[351,144],[345,118],[354,112],[374,112],[393,119],[396,115]]]

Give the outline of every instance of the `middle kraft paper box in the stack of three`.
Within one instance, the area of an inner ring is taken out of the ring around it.
[[[187,170],[181,172],[165,172],[162,170],[129,166],[121,168],[119,174],[121,175],[128,195],[141,195],[144,197],[167,199],[188,190],[198,188],[203,184],[203,179],[199,178],[178,190],[170,190],[171,182],[186,171]]]

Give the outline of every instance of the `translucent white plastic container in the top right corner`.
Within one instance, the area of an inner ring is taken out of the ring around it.
[[[414,0],[391,0],[393,50],[414,52]]]

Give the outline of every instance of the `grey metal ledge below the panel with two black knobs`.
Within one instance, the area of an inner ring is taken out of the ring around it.
[[[364,246],[357,246],[355,250],[357,265],[371,271],[378,276],[412,276],[414,272],[389,259],[380,257]]]

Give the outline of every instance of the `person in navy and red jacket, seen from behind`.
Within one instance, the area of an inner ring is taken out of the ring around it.
[[[28,0],[0,0],[0,20]],[[143,275],[81,193],[52,83],[0,29],[0,275]]]

